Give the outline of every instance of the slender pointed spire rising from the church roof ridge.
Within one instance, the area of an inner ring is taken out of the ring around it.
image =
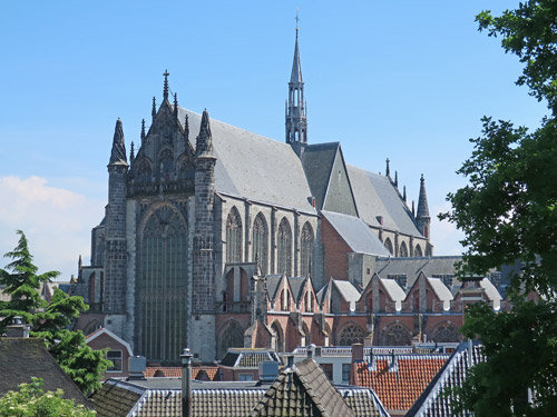
[[[307,115],[304,99],[304,81],[302,80],[302,66],[300,63],[300,48],[297,46],[297,24],[294,62],[292,63],[289,100],[286,102],[286,143],[299,148],[307,145]]]

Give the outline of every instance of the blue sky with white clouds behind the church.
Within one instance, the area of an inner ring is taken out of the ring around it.
[[[465,183],[483,115],[536,127],[544,103],[475,16],[514,1],[26,1],[0,13],[0,252],[23,229],[41,270],[76,274],[102,218],[115,120],[129,151],[163,77],[182,107],[284,140],[300,8],[309,141],[348,163],[398,170],[410,199],[426,176],[431,215]],[[437,255],[459,235],[434,224]],[[0,266],[3,266],[1,264]]]

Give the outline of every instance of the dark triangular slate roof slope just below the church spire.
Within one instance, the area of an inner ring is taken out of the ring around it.
[[[317,208],[323,207],[339,147],[339,142],[309,145],[302,155],[302,165]]]

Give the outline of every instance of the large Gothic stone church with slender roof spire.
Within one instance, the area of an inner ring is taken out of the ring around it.
[[[389,160],[379,175],[312,143],[297,28],[283,141],[180,107],[168,76],[137,149],[116,122],[108,205],[72,288],[90,306],[78,328],[160,364],[186,346],[211,363],[229,347],[459,338],[459,258],[432,257],[423,177],[414,209]]]

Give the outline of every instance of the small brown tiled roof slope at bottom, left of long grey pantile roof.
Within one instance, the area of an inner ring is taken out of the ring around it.
[[[126,417],[141,395],[140,389],[131,390],[105,383],[92,396],[92,401],[99,417]]]

